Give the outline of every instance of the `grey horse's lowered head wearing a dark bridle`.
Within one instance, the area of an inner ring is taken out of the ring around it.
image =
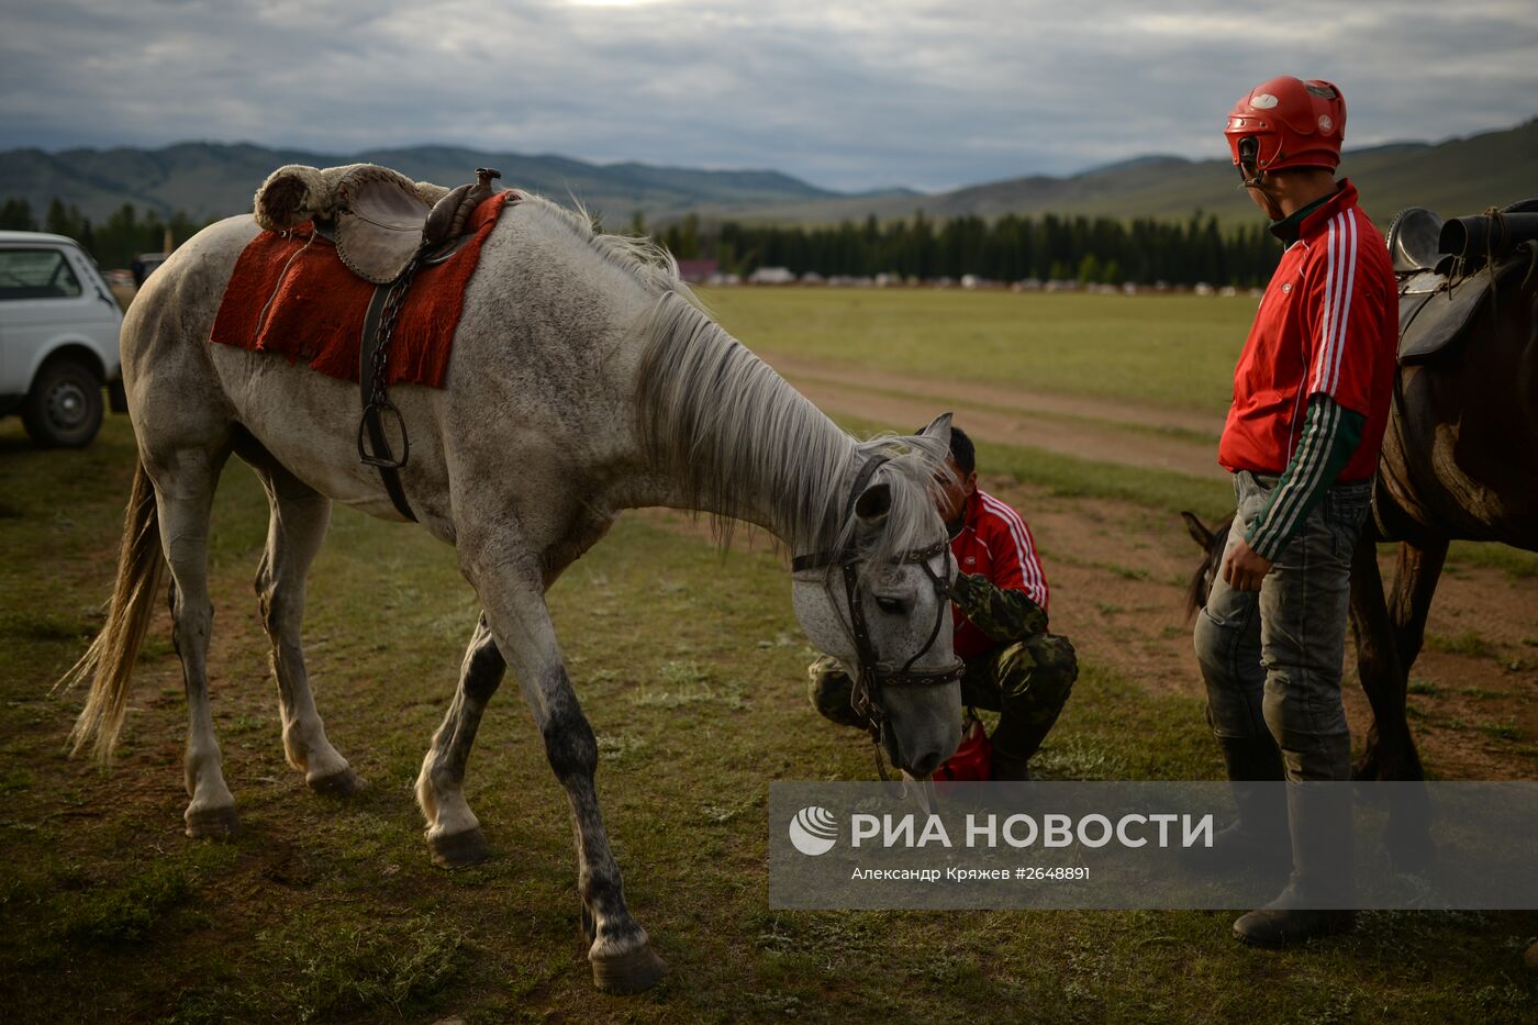
[[[843,499],[838,542],[798,554],[792,597],[814,645],[854,677],[892,763],[929,776],[961,742],[961,662],[950,646],[955,576],[935,509],[949,472],[950,414],[886,449],[861,448]]]

